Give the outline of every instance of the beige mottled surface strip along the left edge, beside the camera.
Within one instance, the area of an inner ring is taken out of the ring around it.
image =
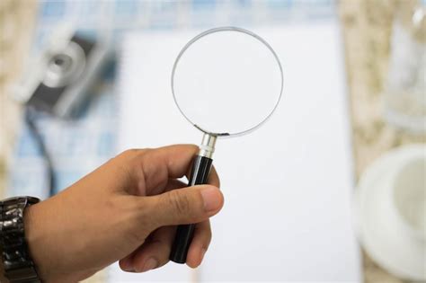
[[[0,0],[0,195],[21,113],[20,105],[11,99],[10,88],[29,54],[36,9],[35,0]]]

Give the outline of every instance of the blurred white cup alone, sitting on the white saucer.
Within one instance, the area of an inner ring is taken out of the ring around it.
[[[407,160],[395,172],[393,205],[405,233],[426,241],[426,158]]]

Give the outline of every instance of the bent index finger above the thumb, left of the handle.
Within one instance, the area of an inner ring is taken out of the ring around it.
[[[129,162],[129,172],[136,175],[141,195],[152,195],[151,190],[162,192],[170,178],[181,178],[191,166],[198,146],[165,146],[151,150],[135,151]]]

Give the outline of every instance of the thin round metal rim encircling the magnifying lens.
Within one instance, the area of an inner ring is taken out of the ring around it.
[[[194,123],[193,121],[191,121],[191,119],[189,119],[188,116],[186,116],[185,113],[182,111],[181,107],[179,106],[179,102],[176,99],[176,93],[174,92],[174,73],[176,71],[176,67],[177,67],[177,65],[179,63],[179,60],[181,59],[183,53],[185,53],[185,51],[187,49],[189,49],[191,47],[191,45],[193,43],[195,43],[197,40],[200,40],[201,38],[203,38],[205,36],[208,36],[209,34],[220,32],[220,31],[238,31],[238,32],[242,32],[244,34],[252,36],[255,40],[261,41],[263,45],[265,45],[268,49],[270,49],[273,57],[275,57],[275,60],[276,60],[276,62],[278,64],[278,66],[280,67],[280,76],[281,76],[280,95],[279,95],[278,100],[275,103],[275,106],[272,109],[271,113],[268,116],[266,116],[265,119],[262,119],[262,121],[260,121],[257,125],[254,125],[252,128],[244,129],[243,131],[236,132],[236,133],[211,133],[211,132],[209,132],[208,130],[206,130],[204,128],[200,128],[200,126],[198,126],[196,123]],[[261,127],[263,125],[263,123],[265,123],[268,119],[271,118],[273,112],[275,112],[275,110],[278,108],[278,105],[280,104],[280,100],[281,100],[281,96],[282,96],[282,90],[283,90],[283,85],[284,85],[283,81],[284,81],[284,79],[283,79],[283,71],[282,71],[282,66],[281,66],[281,63],[280,63],[280,58],[277,56],[277,53],[275,53],[274,49],[272,49],[271,45],[266,40],[263,40],[259,35],[255,34],[253,31],[248,31],[248,30],[245,30],[245,29],[242,29],[242,28],[233,27],[233,26],[226,26],[226,27],[219,27],[219,28],[210,29],[208,31],[203,31],[199,35],[197,35],[196,37],[194,37],[192,40],[190,40],[182,48],[181,52],[179,52],[179,55],[178,55],[178,57],[176,57],[176,60],[174,61],[174,64],[173,64],[171,86],[172,86],[172,93],[173,93],[174,103],[176,104],[176,106],[179,109],[179,111],[182,113],[183,117],[185,119],[187,119],[191,123],[192,126],[194,126],[195,128],[200,129],[202,132],[204,132],[206,134],[209,134],[211,136],[216,136],[216,137],[236,137],[236,136],[243,136],[245,134],[248,134],[248,133],[252,132],[254,129]]]

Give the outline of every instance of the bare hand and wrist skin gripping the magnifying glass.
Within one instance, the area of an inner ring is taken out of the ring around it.
[[[128,150],[24,214],[27,242],[45,282],[77,282],[115,261],[130,272],[169,260],[177,225],[197,223],[187,265],[200,265],[209,217],[223,207],[214,168],[209,184],[185,187],[197,146]],[[179,190],[175,190],[179,189]]]

